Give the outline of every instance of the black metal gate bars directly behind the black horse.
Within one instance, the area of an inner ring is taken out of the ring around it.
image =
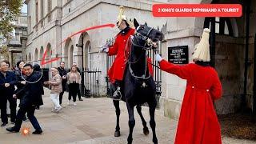
[[[113,39],[108,40],[107,44],[109,44],[110,46],[113,45]],[[161,46],[161,42],[158,42],[158,50],[157,53],[161,54],[162,51],[162,46]],[[159,107],[159,99],[160,96],[162,94],[162,90],[161,90],[161,86],[162,86],[162,71],[159,69],[159,64],[158,62],[155,61],[154,58],[154,50],[148,50],[148,57],[151,58],[151,62],[150,63],[153,66],[153,70],[154,70],[154,82],[156,84],[156,100],[157,100],[157,107]],[[114,62],[114,56],[107,56],[106,57],[106,70],[110,69],[110,66],[112,66],[112,63]],[[110,78],[108,78],[106,76],[106,91],[107,91],[107,95],[110,95]]]

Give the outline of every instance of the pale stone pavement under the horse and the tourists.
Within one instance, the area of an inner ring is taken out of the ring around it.
[[[63,109],[59,114],[51,113],[53,103],[49,98],[49,91],[43,96],[44,105],[36,110],[36,117],[42,126],[43,134],[34,135],[34,128],[30,122],[23,122],[22,127],[30,127],[30,134],[24,136],[20,133],[10,134],[6,127],[0,127],[0,144],[27,144],[27,143],[77,143],[77,144],[123,144],[129,134],[128,115],[126,105],[121,102],[121,137],[114,137],[115,112],[110,98],[84,98],[77,102],[78,106],[67,106],[67,95],[63,98]],[[150,121],[147,107],[142,107],[146,121]],[[153,143],[152,133],[145,136],[142,133],[142,122],[134,112],[136,125],[134,127],[134,144]],[[156,110],[156,131],[159,144],[174,143],[177,121],[165,118],[161,110]],[[150,127],[149,123],[147,126]],[[251,144],[256,142],[222,138],[224,144]]]

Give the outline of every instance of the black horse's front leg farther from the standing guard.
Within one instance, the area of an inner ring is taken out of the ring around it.
[[[134,106],[131,106],[128,102],[126,102],[128,114],[129,114],[129,136],[127,138],[128,144],[131,144],[133,142],[133,130],[135,126],[135,119],[134,119]]]

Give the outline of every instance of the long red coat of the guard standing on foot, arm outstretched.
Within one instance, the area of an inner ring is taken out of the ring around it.
[[[160,68],[187,80],[175,144],[221,144],[213,101],[222,96],[222,85],[214,68],[194,63],[178,66],[165,60]]]

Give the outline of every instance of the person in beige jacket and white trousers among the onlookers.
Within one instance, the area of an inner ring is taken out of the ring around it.
[[[52,78],[48,82],[44,82],[46,85],[50,85],[50,99],[54,102],[54,110],[53,112],[58,113],[62,110],[62,106],[59,104],[59,94],[62,92],[62,77],[58,74],[57,68],[50,69]]]

